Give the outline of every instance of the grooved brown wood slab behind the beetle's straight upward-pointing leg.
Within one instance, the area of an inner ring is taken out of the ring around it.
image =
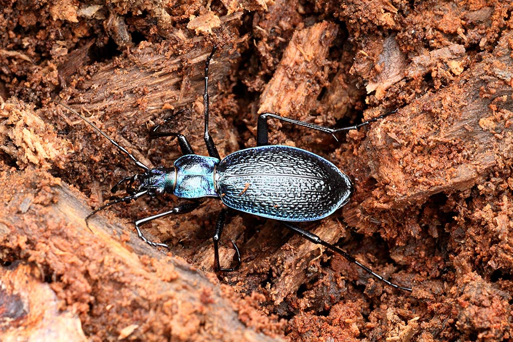
[[[133,52],[128,63],[123,62],[125,65],[107,64],[91,77],[80,80],[77,87],[85,92],[73,97],[69,104],[98,113],[100,119],[104,113],[123,113],[103,120],[106,126],[129,125],[134,116],[137,123],[147,123],[156,114],[162,115],[163,110],[182,108],[196,100],[202,107],[203,69],[211,50],[212,45],[205,45],[202,49],[194,47],[177,54],[165,47],[143,44]],[[210,79],[214,81],[227,75],[229,61],[235,57],[236,52],[231,47],[223,46],[210,64]],[[212,81],[211,96],[216,92]],[[215,123],[213,114],[212,130],[217,132],[221,128]]]

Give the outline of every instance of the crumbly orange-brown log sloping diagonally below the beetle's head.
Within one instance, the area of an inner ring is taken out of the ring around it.
[[[84,220],[89,208],[80,193],[48,173],[3,172],[0,193],[4,204],[0,257],[8,259],[14,251],[27,255],[41,269],[42,277],[53,279],[50,288],[63,301],[56,307],[77,313],[88,335],[102,340],[280,340],[242,325],[233,302],[227,300],[215,278],[150,248],[119,224],[101,217],[90,220],[91,233]],[[9,295],[16,294],[13,284],[22,281],[22,270],[29,269],[21,267],[10,277],[3,271],[3,282],[9,281],[2,290],[5,298],[11,300]],[[31,310],[45,299],[26,292],[30,287],[45,289],[44,284],[36,279],[30,284],[17,289],[18,296],[28,303],[24,306],[28,312],[16,321],[18,327],[27,327],[26,334],[35,327],[30,317],[42,319],[42,313]],[[44,291],[51,299],[52,292]],[[51,308],[47,306],[45,317],[64,319]],[[10,312],[7,316],[0,312],[5,327]],[[75,320],[73,326],[77,325],[74,338],[80,338],[80,324]],[[61,333],[68,330],[67,325],[53,328]]]

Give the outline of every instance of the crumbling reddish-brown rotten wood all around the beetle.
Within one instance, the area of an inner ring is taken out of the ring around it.
[[[0,340],[502,341],[513,318],[513,7],[509,2],[222,0],[21,2],[0,9]],[[232,213],[241,268],[212,273],[219,200],[143,226],[179,199],[84,217],[136,167],[203,142],[203,68],[222,156],[270,142],[347,173],[349,204],[302,225],[395,291],[277,222]],[[188,108],[190,111],[178,110]]]

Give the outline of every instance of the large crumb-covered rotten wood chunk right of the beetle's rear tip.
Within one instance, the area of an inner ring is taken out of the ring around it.
[[[381,186],[352,210],[423,204],[433,194],[469,189],[511,159],[512,38],[505,34],[459,82],[373,125],[349,162],[360,171],[361,184],[373,178]],[[355,214],[348,217],[349,224],[358,224]]]

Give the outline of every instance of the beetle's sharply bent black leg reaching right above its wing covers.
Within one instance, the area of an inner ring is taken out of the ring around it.
[[[348,127],[342,127],[342,128],[330,128],[330,127],[324,127],[324,126],[309,124],[309,123],[305,123],[305,122],[300,121],[300,120],[295,120],[295,119],[291,119],[291,118],[288,118],[288,117],[283,117],[283,116],[280,116],[280,115],[274,114],[274,113],[261,113],[259,115],[259,117],[258,117],[258,123],[257,123],[257,146],[269,145],[269,142],[268,142],[268,131],[269,131],[269,129],[268,129],[268,126],[267,126],[267,118],[268,117],[272,117],[272,118],[279,119],[279,120],[282,120],[282,121],[290,123],[290,124],[294,124],[294,125],[298,125],[298,126],[303,126],[303,127],[306,127],[306,128],[318,130],[318,131],[321,131],[321,132],[324,132],[324,133],[329,133],[329,134],[333,135],[334,133],[338,133],[338,132],[359,129],[362,126],[369,125],[370,123],[373,123],[373,122],[375,122],[375,121],[377,121],[379,119],[385,118],[388,115],[393,114],[393,113],[397,113],[397,112],[398,112],[398,110],[396,109],[396,110],[391,111],[389,113],[382,114],[380,116],[368,119],[367,121],[365,121],[365,122],[363,122],[361,124],[354,125],[354,126],[348,126]],[[335,136],[333,135],[333,137],[335,137]],[[337,137],[335,137],[335,139],[337,139]]]

